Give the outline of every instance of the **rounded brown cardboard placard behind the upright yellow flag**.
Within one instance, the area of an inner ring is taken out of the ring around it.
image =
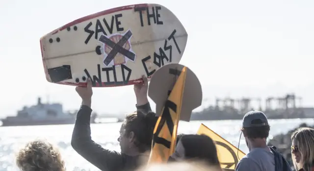
[[[161,114],[183,67],[180,64],[168,64],[152,76],[148,96],[156,103],[157,116]],[[192,110],[202,104],[202,86],[197,76],[187,67],[186,72],[180,120],[189,122]]]

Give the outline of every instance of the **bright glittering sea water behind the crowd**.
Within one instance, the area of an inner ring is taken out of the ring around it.
[[[314,124],[313,119],[270,120],[271,130],[269,138],[276,134],[286,133],[303,122]],[[239,128],[241,125],[239,120],[180,122],[178,132],[194,134],[201,123],[207,125],[236,147],[238,146]],[[92,124],[92,139],[104,148],[120,151],[119,143],[117,142],[120,126],[121,123]],[[71,147],[73,127],[73,124],[0,127],[0,171],[18,171],[15,166],[15,154],[19,148],[34,139],[46,139],[58,146],[66,162],[67,171],[99,171]],[[248,152],[243,136],[240,140],[239,148],[246,153]]]

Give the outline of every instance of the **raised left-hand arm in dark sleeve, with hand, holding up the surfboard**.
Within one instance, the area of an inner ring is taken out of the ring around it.
[[[87,81],[87,87],[77,87],[76,91],[82,98],[82,105],[78,110],[74,125],[72,147],[79,155],[102,171],[121,171],[124,167],[123,161],[127,156],[104,149],[91,138],[90,116],[93,91],[90,80]]]

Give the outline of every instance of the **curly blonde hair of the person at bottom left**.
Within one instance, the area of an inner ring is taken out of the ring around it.
[[[19,150],[16,164],[21,171],[65,171],[59,150],[44,140],[27,143]]]

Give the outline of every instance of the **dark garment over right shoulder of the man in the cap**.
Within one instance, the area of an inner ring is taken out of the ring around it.
[[[277,151],[276,147],[269,147],[275,156],[275,171],[292,171],[285,157]]]

